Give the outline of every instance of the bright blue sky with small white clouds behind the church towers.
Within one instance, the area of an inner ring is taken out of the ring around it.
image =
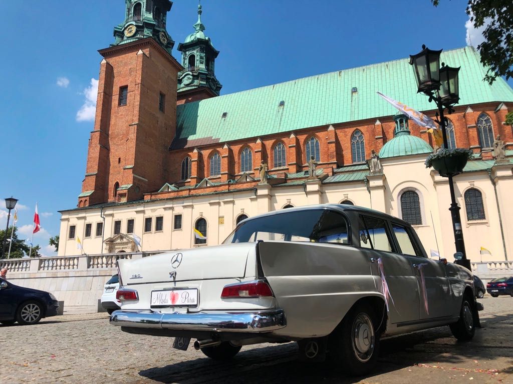
[[[215,68],[226,94],[407,57],[422,44],[463,47],[467,32],[477,46],[479,31],[467,31],[466,1],[441,3],[203,0],[202,20],[221,51]],[[167,30],[175,47],[193,31],[197,5],[174,1]],[[123,0],[3,4],[9,17],[0,60],[0,228],[7,220],[3,198],[13,196],[19,199],[19,237],[30,237],[37,201],[42,230],[34,243],[45,255],[54,254],[48,239],[59,232],[57,210],[75,207],[81,193],[102,59],[97,50],[113,41],[124,12]],[[173,55],[180,61],[180,52]]]

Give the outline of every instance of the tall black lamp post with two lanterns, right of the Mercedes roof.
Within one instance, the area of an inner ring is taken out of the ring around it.
[[[423,45],[421,52],[416,55],[410,55],[410,65],[413,66],[413,71],[415,72],[418,87],[417,93],[425,94],[429,97],[429,102],[435,101],[437,104],[438,112],[436,114],[436,121],[442,130],[444,147],[448,148],[446,131],[448,120],[444,116],[444,111],[447,109],[449,114],[454,112],[453,105],[457,104],[460,100],[458,81],[460,68],[448,67],[444,63],[442,63],[442,67],[440,68],[441,52],[442,50],[433,51]],[[456,202],[454,183],[452,180],[453,176],[456,175],[447,175],[451,198],[449,211],[452,218],[452,230],[454,232],[456,252],[462,254],[461,260],[457,260],[456,263],[470,269],[470,260],[467,259],[465,252],[460,206]]]

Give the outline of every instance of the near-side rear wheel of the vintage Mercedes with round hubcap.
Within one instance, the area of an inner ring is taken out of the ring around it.
[[[362,376],[376,366],[380,333],[377,318],[367,304],[353,307],[328,339],[328,360],[351,376]]]

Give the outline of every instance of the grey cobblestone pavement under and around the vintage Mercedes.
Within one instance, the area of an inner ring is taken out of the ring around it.
[[[0,383],[513,383],[513,297],[481,302],[484,328],[472,342],[448,327],[383,340],[377,371],[358,379],[298,361],[295,343],[243,347],[222,364],[172,349],[172,338],[122,332],[106,313],[50,317],[0,326]]]

